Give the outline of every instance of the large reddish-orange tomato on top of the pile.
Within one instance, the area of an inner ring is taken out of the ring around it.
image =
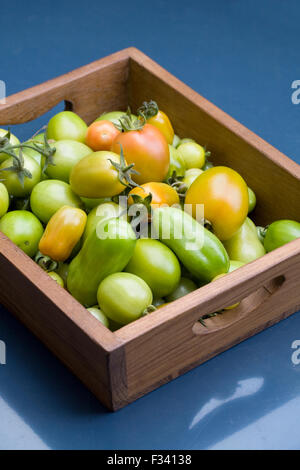
[[[168,142],[159,129],[145,124],[141,130],[120,133],[112,144],[111,150],[120,153],[123,148],[125,160],[134,163],[139,175],[132,179],[138,184],[151,181],[164,181],[170,165]]]

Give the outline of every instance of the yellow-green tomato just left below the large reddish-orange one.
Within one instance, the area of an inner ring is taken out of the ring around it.
[[[74,193],[86,198],[112,197],[124,191],[118,171],[111,161],[120,164],[120,156],[114,152],[93,152],[80,160],[70,175]]]

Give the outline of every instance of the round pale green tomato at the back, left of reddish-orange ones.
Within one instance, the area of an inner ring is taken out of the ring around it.
[[[85,142],[87,125],[72,111],[62,111],[53,116],[47,127],[47,138],[53,140],[78,140]]]

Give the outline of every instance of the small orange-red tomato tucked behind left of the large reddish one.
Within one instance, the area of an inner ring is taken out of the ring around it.
[[[88,127],[85,143],[94,151],[110,150],[119,134],[120,131],[111,121],[96,121]]]

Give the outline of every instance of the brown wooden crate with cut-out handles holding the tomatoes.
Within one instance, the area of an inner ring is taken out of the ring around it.
[[[61,100],[87,123],[154,99],[180,136],[206,144],[257,194],[258,224],[300,218],[300,167],[135,48],[10,96],[0,125]],[[0,234],[0,301],[111,410],[117,410],[300,308],[300,239],[116,332],[106,329]],[[243,300],[242,300],[243,299]],[[240,306],[197,321],[224,305]]]

